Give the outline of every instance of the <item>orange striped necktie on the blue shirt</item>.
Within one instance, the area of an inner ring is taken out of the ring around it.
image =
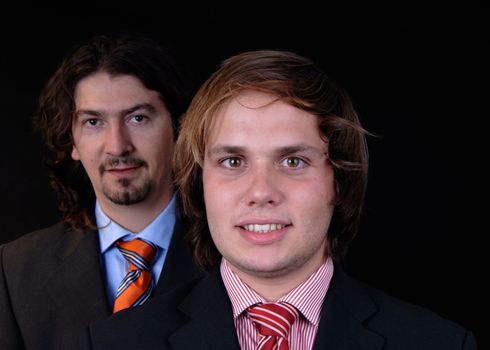
[[[129,263],[129,271],[116,292],[114,312],[143,304],[153,290],[151,265],[158,247],[141,239],[117,241],[115,246]]]

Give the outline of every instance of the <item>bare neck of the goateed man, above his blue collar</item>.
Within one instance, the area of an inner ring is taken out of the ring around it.
[[[170,202],[171,195],[160,198],[155,203],[143,201],[131,205],[119,205],[99,200],[100,207],[112,221],[134,233],[143,231],[164,210]]]

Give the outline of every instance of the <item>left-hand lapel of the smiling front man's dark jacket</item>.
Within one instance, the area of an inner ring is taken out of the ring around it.
[[[210,272],[179,309],[190,321],[170,336],[173,349],[240,350],[231,303],[219,269]]]

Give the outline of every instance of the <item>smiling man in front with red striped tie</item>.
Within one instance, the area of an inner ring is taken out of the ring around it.
[[[183,122],[175,178],[207,277],[90,326],[94,349],[475,349],[471,332],[350,278],[366,131],[310,59],[224,61]]]

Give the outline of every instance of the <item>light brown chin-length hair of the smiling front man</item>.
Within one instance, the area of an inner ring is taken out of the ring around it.
[[[337,190],[327,253],[342,258],[358,230],[364,201],[366,131],[347,93],[314,62],[292,52],[260,50],[225,60],[198,90],[181,126],[174,171],[183,210],[190,219],[188,237],[197,262],[209,267],[221,258],[207,226],[203,199],[206,141],[220,108],[244,90],[275,95],[317,116],[321,135],[328,142]]]

